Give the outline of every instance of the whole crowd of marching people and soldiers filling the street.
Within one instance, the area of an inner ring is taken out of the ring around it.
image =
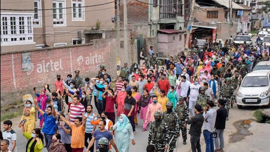
[[[34,88],[19,125],[26,152],[83,152],[84,147],[86,152],[94,147],[128,152],[130,141],[135,145],[138,119],[142,131],[149,129],[147,152],[173,152],[180,136],[187,144],[188,130],[192,152],[201,152],[202,130],[206,152],[223,152],[225,122],[237,90],[257,62],[269,60],[269,48],[207,41],[202,50],[169,57],[165,66],[157,62],[153,47],[148,53],[149,61],[140,54],[140,64],[124,64],[115,87],[100,65],[94,78],[82,79],[77,70],[75,76],[56,75],[54,90],[48,84],[41,91]],[[3,125],[1,151],[17,152],[12,122]]]

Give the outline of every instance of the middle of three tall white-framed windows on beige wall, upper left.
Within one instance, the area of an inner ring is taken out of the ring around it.
[[[65,1],[53,0],[54,26],[65,26]]]

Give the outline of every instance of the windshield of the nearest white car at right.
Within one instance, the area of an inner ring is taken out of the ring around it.
[[[267,76],[245,77],[242,87],[267,87],[268,83]]]

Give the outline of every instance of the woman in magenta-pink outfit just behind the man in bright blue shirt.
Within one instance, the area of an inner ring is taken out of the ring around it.
[[[47,101],[46,91],[42,90],[40,92],[40,94],[36,93],[36,96],[37,96],[37,103],[38,103],[39,108],[42,111],[45,111],[46,110],[46,101]],[[39,127],[41,128],[42,124],[44,122],[44,117],[40,113],[38,113],[38,119],[39,119]]]

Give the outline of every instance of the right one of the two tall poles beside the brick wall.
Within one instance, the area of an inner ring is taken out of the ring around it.
[[[127,11],[127,0],[124,2],[124,61],[128,62],[129,49],[128,49],[128,11]]]

